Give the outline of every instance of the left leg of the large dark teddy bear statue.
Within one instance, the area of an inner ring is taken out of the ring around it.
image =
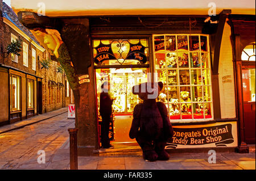
[[[143,159],[148,160],[150,162],[156,161],[158,159],[158,154],[156,154],[154,150],[154,145],[152,145],[151,141],[146,141],[142,137],[136,137],[136,141],[143,151]]]

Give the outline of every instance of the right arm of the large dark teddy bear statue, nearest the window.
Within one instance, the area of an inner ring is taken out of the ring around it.
[[[168,138],[173,136],[174,129],[172,128],[172,124],[168,117],[168,111],[167,111],[166,105],[163,102],[157,102],[157,104],[158,104],[158,109],[159,109],[162,119],[163,119],[164,137],[167,140]]]

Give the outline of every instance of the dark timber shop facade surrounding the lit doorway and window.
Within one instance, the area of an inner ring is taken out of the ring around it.
[[[210,20],[208,15],[69,18],[73,23],[86,22],[88,29],[80,40],[88,35],[87,54],[91,54],[86,57],[89,62],[72,60],[74,66],[89,67],[86,73],[79,70],[81,85],[89,87],[90,102],[88,119],[76,123],[79,155],[82,150],[95,153],[100,149],[98,107],[105,81],[110,82],[110,95],[115,98],[109,136],[116,148],[136,145],[129,129],[133,108],[142,100],[131,88],[152,80],[164,83],[158,101],[166,104],[174,126],[167,149],[220,148],[245,153],[247,144],[255,144],[255,15],[222,10]],[[20,19],[29,26],[30,22]],[[47,26],[71,22],[61,19],[65,18],[51,17]],[[65,32],[60,32],[64,37],[61,33]]]

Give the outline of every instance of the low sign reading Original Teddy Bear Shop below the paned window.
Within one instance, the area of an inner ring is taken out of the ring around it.
[[[231,123],[210,127],[174,127],[174,136],[166,148],[232,146],[237,142],[233,137],[236,135],[234,129],[236,125]]]

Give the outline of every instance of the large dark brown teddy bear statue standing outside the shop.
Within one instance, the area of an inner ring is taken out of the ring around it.
[[[172,125],[164,103],[156,102],[162,89],[162,82],[146,82],[133,87],[133,94],[138,94],[143,103],[134,107],[129,136],[136,138],[143,158],[148,161],[168,160],[170,157],[164,148],[173,135]]]

